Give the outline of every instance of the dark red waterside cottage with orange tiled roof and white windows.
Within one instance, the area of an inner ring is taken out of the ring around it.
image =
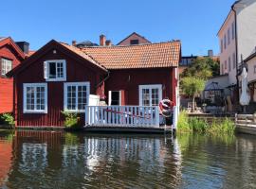
[[[64,126],[62,111],[79,112],[89,94],[109,105],[176,102],[179,41],[78,48],[50,41],[11,72],[18,127]]]

